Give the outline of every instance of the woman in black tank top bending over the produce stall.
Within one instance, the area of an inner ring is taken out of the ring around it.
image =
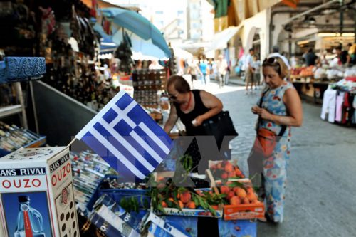
[[[169,133],[176,124],[178,117],[185,125],[187,136],[206,135],[201,124],[204,120],[221,112],[223,105],[215,95],[205,90],[190,90],[187,80],[179,75],[172,75],[167,81],[167,93],[172,101],[168,120],[164,131]],[[197,172],[200,156],[192,155],[192,172]]]

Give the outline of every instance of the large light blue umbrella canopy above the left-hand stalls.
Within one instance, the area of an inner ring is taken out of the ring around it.
[[[162,33],[144,16],[141,16],[136,11],[112,7],[103,8],[102,11],[113,23],[131,31],[145,41],[151,41],[153,45],[164,52],[165,56],[171,56],[171,51]]]

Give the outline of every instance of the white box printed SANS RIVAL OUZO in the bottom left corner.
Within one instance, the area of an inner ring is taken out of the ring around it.
[[[23,148],[0,159],[6,237],[79,236],[67,147]]]

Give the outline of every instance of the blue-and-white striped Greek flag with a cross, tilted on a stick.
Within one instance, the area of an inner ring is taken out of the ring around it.
[[[125,177],[145,179],[170,152],[172,140],[124,91],[75,136]]]

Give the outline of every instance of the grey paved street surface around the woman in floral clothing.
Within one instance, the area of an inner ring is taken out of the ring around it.
[[[238,86],[219,89],[216,83],[204,88],[231,113],[239,132],[233,157],[244,167],[255,135],[250,109],[258,93],[246,95]],[[258,223],[258,236],[355,236],[356,130],[320,120],[320,110],[303,103],[303,127],[292,132],[285,220],[278,226]]]

